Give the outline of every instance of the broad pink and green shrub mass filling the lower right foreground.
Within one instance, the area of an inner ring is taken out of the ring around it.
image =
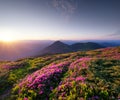
[[[120,95],[118,68],[120,66],[115,65],[120,65],[120,62],[88,57],[78,59],[71,64],[67,76],[51,93],[51,100],[118,99]],[[114,79],[111,80],[111,78]],[[114,82],[111,82],[113,80]]]

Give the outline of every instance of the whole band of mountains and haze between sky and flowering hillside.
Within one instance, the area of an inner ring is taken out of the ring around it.
[[[63,43],[62,43],[63,42]],[[87,51],[103,47],[120,46],[120,40],[86,40],[86,41],[72,41],[72,40],[22,40],[12,43],[0,42],[0,60],[17,60],[26,57],[39,56],[55,53],[67,53],[73,51]],[[50,46],[51,44],[53,46]],[[97,44],[95,44],[97,43]],[[100,45],[99,45],[100,44]],[[47,48],[49,47],[49,48]],[[47,48],[47,49],[44,49]],[[57,49],[58,48],[58,49]]]

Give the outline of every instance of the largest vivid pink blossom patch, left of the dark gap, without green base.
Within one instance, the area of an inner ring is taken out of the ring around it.
[[[22,92],[23,87],[38,91],[39,95],[49,93],[56,83],[60,82],[61,76],[67,71],[69,64],[69,62],[62,62],[57,65],[47,66],[27,76],[19,84],[19,93]]]

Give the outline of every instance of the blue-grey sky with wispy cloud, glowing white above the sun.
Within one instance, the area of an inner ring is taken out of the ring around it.
[[[120,0],[0,0],[0,39],[120,40]]]

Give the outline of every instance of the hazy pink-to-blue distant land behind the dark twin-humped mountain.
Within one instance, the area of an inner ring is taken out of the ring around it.
[[[58,41],[58,40],[57,40]],[[105,47],[120,46],[120,40],[59,40],[64,44],[97,43]],[[0,61],[16,61],[23,58],[39,56],[42,50],[51,46],[56,41],[52,40],[21,40],[17,42],[0,42]],[[58,45],[59,46],[59,45]],[[81,47],[81,46],[80,46]],[[60,47],[61,48],[61,47]],[[52,49],[54,51],[55,48]],[[61,48],[62,49],[62,48]],[[56,50],[56,49],[55,49]],[[57,49],[60,50],[60,49]]]

